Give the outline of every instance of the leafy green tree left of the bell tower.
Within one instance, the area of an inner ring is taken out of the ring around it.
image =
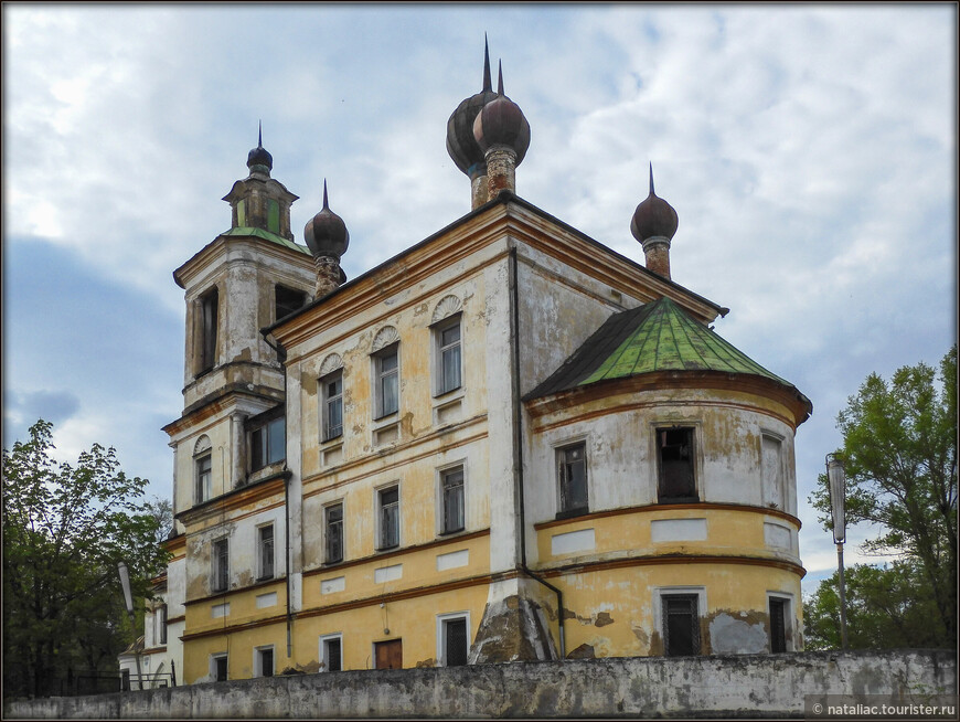
[[[3,693],[58,691],[71,670],[116,670],[131,640],[117,563],[135,597],[167,562],[148,484],[95,444],[75,465],[51,457],[53,426],[38,421],[3,449]]]

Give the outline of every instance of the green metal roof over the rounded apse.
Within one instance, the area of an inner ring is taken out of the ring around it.
[[[527,399],[657,371],[719,371],[780,376],[737,350],[669,298],[615,314]],[[798,392],[799,393],[799,392]],[[808,402],[809,403],[809,402]]]

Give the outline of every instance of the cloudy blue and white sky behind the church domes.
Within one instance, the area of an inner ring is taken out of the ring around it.
[[[171,495],[172,272],[230,227],[263,121],[273,177],[351,236],[353,278],[470,210],[447,118],[484,33],[531,146],[516,192],[673,280],[813,402],[796,439],[804,592],[835,570],[808,497],[847,396],[957,342],[957,6],[3,3],[3,447],[42,417]],[[867,561],[850,530],[847,564]]]

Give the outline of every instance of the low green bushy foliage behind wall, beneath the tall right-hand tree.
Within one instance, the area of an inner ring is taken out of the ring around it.
[[[943,646],[947,630],[916,564],[856,564],[846,570],[845,585],[851,649]],[[807,649],[840,649],[836,572],[803,601],[803,637]]]

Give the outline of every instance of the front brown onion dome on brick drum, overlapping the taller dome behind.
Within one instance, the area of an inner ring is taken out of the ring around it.
[[[516,167],[530,148],[530,124],[520,106],[503,93],[503,67],[500,67],[497,97],[473,120],[473,138],[487,159],[488,200],[504,190],[515,192]]]

